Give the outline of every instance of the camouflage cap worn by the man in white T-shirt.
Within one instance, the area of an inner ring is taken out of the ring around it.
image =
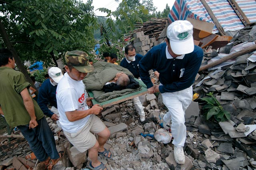
[[[88,73],[94,70],[92,64],[89,63],[88,54],[83,51],[68,51],[65,54],[65,60],[67,64],[71,64],[76,70]]]

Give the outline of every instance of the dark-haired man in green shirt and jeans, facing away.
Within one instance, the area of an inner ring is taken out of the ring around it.
[[[0,114],[10,127],[19,128],[42,164],[56,164],[64,152],[58,153],[44,113],[28,91],[30,84],[14,66],[10,50],[0,48]]]

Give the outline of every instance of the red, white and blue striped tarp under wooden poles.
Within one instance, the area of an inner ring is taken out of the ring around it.
[[[206,0],[212,12],[224,31],[236,31],[244,28],[244,24],[229,4],[228,0]],[[244,14],[250,22],[256,22],[256,1],[255,0],[236,0]],[[169,23],[175,20],[186,20],[194,18],[206,22],[212,22],[208,12],[200,0],[176,0],[172,10],[168,14]],[[218,29],[214,26],[212,33],[217,33]]]

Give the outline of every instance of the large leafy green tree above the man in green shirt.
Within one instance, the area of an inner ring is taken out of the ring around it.
[[[68,50],[88,52],[94,44],[92,0],[0,0],[2,23],[22,60],[55,64]],[[1,43],[3,42],[0,39]],[[3,46],[3,45],[2,45]]]

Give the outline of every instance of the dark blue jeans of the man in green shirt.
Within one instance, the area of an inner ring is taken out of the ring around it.
[[[36,158],[42,162],[49,156],[51,159],[60,158],[56,149],[53,132],[50,129],[46,118],[38,120],[38,126],[29,129],[29,124],[17,126],[22,132],[24,138],[28,141],[31,150]]]

